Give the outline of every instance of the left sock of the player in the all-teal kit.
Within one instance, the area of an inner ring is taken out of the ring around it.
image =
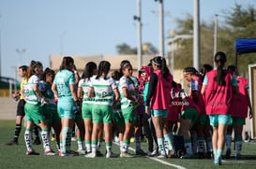
[[[71,146],[71,136],[72,129],[70,127],[64,127],[62,131],[62,143],[63,149],[62,152],[65,154],[67,151],[70,151]]]

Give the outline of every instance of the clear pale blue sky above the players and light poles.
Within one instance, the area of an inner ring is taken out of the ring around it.
[[[143,43],[158,48],[158,2],[142,1]],[[193,15],[193,0],[163,0],[165,42],[176,19]],[[221,21],[223,10],[255,6],[256,0],[201,0],[200,20]],[[116,45],[137,46],[137,0],[0,0],[1,76],[49,55],[117,55]],[[165,51],[168,49],[165,46]]]

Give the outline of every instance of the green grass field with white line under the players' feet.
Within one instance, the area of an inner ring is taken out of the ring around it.
[[[148,157],[136,157],[132,159],[127,158],[113,158],[106,159],[105,157],[98,157],[95,159],[87,159],[83,156],[78,157],[59,157],[59,156],[45,156],[42,145],[34,146],[39,156],[26,156],[26,148],[23,140],[23,131],[20,136],[18,146],[6,146],[5,144],[12,139],[14,134],[14,120],[0,120],[0,169],[5,168],[89,168],[89,169],[165,169],[165,168],[191,168],[191,169],[207,169],[207,168],[241,168],[252,169],[256,168],[256,144],[244,143],[242,154],[247,157],[247,160],[234,161],[224,160],[222,165],[215,166],[212,160],[181,160],[181,159],[163,159],[158,160]],[[134,144],[131,144],[134,148]],[[147,143],[142,144],[143,150],[147,150]],[[57,151],[52,142],[53,150]],[[77,142],[72,142],[72,149],[77,149]],[[102,144],[101,152],[104,152],[104,144]],[[119,154],[119,148],[113,144],[113,152]],[[134,153],[132,150],[130,153]]]

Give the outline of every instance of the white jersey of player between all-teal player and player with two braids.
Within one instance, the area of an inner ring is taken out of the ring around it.
[[[96,76],[88,78],[82,78],[79,83],[78,87],[83,88],[83,104],[94,104],[94,97],[88,97],[87,93],[90,87],[90,83]]]

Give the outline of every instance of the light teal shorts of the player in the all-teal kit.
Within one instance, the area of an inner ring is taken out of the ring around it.
[[[75,119],[74,112],[77,111],[73,97],[59,98],[58,100],[58,113],[61,119]]]

